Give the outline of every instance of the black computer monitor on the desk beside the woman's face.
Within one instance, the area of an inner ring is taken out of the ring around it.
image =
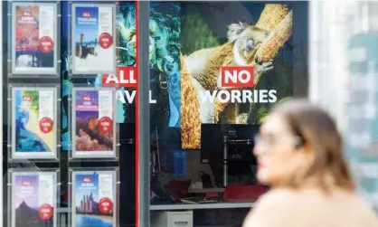
[[[201,129],[201,162],[211,167],[216,186],[224,186],[225,146],[229,183],[236,183],[235,179],[242,181],[249,175],[256,182],[256,158],[252,152],[253,138],[260,125],[202,124]]]

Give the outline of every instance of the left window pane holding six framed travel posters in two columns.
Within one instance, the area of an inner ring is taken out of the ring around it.
[[[135,2],[2,6],[1,226],[133,226],[136,100],[114,78],[137,71]]]

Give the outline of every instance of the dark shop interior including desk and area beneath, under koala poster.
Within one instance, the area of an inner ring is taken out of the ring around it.
[[[151,135],[151,224],[161,219],[161,211],[193,216],[194,226],[240,224],[268,190],[255,178],[253,137],[259,128],[202,124],[201,148],[185,150],[176,148],[180,130],[156,127]],[[206,217],[212,214],[213,220]]]

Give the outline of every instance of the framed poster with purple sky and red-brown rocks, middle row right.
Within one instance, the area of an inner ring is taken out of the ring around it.
[[[115,90],[72,91],[72,157],[115,157]]]

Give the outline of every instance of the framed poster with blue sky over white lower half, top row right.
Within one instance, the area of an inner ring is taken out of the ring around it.
[[[72,73],[114,73],[114,5],[72,5]]]

